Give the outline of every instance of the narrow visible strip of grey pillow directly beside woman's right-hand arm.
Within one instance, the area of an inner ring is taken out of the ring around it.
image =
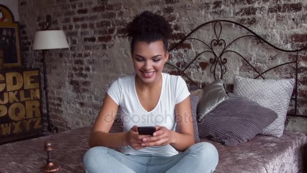
[[[198,136],[198,127],[197,127],[197,120],[196,120],[196,106],[198,102],[198,97],[194,95],[190,95],[190,104],[191,104],[191,113],[192,113],[192,121],[193,121],[193,131],[194,131],[194,142],[197,143],[200,141]],[[178,132],[177,125],[176,125],[176,132]]]

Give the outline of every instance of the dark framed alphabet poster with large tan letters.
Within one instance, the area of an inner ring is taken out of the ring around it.
[[[42,131],[39,69],[0,71],[0,143]]]

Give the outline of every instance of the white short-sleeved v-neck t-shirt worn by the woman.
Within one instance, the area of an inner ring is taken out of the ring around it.
[[[124,132],[128,132],[133,125],[137,126],[165,126],[175,131],[175,105],[187,98],[190,93],[181,76],[162,73],[162,90],[158,104],[151,111],[146,111],[140,104],[135,90],[135,73],[115,80],[108,95],[119,105],[118,114],[122,118]],[[135,150],[131,146],[122,147],[122,153],[155,156],[172,156],[178,152],[171,146],[152,146]]]

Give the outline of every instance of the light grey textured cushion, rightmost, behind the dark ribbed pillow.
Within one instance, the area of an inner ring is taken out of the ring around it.
[[[281,137],[294,83],[294,79],[263,80],[236,76],[233,93],[274,110],[278,118],[260,134]]]

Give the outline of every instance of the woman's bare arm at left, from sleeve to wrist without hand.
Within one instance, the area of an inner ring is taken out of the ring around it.
[[[109,134],[117,110],[118,105],[108,94],[106,94],[103,106],[100,109],[89,135],[88,144],[90,147],[104,146],[115,148],[127,146],[127,133]]]

